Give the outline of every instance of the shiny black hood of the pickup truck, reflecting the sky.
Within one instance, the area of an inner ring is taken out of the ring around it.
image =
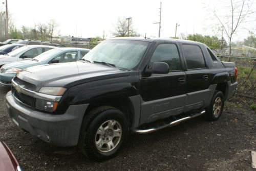
[[[116,76],[113,76],[116,75]],[[92,78],[113,76],[124,77],[128,72],[101,64],[68,62],[29,67],[20,71],[17,77],[37,87],[69,87]]]

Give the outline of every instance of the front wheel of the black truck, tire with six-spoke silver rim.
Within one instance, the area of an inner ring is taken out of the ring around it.
[[[124,114],[110,106],[98,107],[84,120],[80,132],[79,148],[89,159],[103,161],[114,157],[129,134],[129,124]]]

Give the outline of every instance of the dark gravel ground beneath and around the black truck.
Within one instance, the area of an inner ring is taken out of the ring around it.
[[[146,135],[131,134],[113,159],[92,162],[76,148],[50,145],[17,128],[0,86],[0,140],[25,170],[253,170],[256,114],[245,103],[228,102],[215,122],[198,117]]]

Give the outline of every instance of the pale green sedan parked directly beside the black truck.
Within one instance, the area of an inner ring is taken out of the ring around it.
[[[61,47],[42,53],[31,60],[16,61],[3,65],[0,68],[0,84],[10,87],[11,80],[16,74],[30,66],[51,63],[64,63],[79,61],[90,50],[86,48]]]

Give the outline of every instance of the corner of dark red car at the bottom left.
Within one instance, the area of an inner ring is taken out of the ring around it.
[[[17,159],[12,154],[8,146],[0,141],[0,170],[6,171],[22,171],[22,166],[19,165]]]

